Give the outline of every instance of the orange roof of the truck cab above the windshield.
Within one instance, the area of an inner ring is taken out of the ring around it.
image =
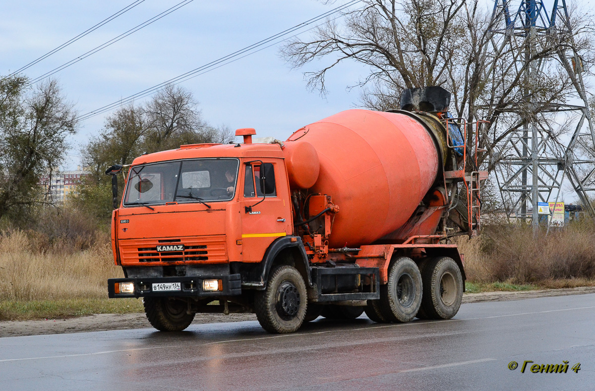
[[[132,165],[164,162],[201,157],[280,157],[283,152],[278,144],[190,144],[178,149],[149,153],[137,157]]]

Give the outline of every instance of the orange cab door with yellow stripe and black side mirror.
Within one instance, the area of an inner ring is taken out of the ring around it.
[[[243,168],[242,257],[259,262],[275,239],[292,233],[289,188],[283,161],[253,160]]]

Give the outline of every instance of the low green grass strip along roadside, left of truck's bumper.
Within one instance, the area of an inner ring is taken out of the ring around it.
[[[91,314],[142,313],[140,299],[58,299],[0,301],[0,320],[55,319]]]

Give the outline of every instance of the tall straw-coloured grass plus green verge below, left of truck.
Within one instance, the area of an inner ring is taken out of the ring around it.
[[[142,312],[136,299],[108,299],[107,279],[123,277],[109,239],[0,232],[0,320]]]

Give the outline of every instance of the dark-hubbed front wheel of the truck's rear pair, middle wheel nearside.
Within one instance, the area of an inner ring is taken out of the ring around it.
[[[417,264],[400,257],[389,267],[389,281],[380,286],[380,313],[390,322],[406,323],[414,319],[421,306],[422,280]]]

